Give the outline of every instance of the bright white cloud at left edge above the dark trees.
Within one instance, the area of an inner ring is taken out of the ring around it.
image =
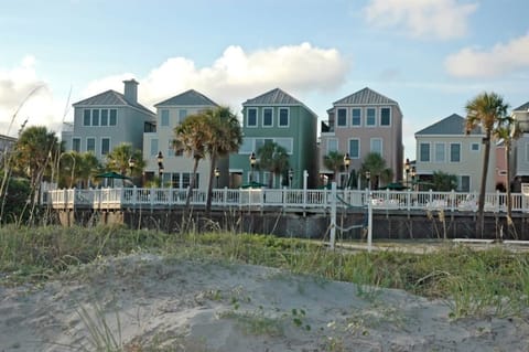
[[[25,56],[13,68],[0,68],[0,134],[15,136],[28,126],[46,126],[58,131],[62,122],[48,85],[35,72],[36,60]],[[62,107],[64,108],[64,107]],[[10,126],[11,125],[11,126]]]

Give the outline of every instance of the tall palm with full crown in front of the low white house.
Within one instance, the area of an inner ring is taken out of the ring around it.
[[[481,127],[485,134],[483,143],[485,150],[483,154],[482,185],[479,188],[479,200],[477,204],[476,235],[483,237],[485,207],[485,192],[487,186],[488,162],[490,157],[490,138],[495,128],[500,125],[501,119],[507,115],[508,104],[496,93],[482,93],[469,100],[466,106],[465,131],[468,135],[474,128]]]

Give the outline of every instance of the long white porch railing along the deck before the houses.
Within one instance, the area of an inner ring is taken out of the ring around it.
[[[54,209],[91,207],[171,207],[185,205],[187,190],[181,189],[63,189],[47,191],[46,198]],[[451,212],[477,211],[477,193],[462,192],[413,192],[370,191],[375,210],[432,210]],[[363,207],[367,204],[368,191],[338,190],[338,207]],[[331,190],[291,189],[216,189],[213,190],[212,205],[224,207],[285,207],[302,210],[325,210],[331,204]],[[487,193],[485,211],[506,212],[505,193]],[[206,191],[193,190],[190,203],[205,206]],[[512,212],[529,212],[529,198],[512,193]]]

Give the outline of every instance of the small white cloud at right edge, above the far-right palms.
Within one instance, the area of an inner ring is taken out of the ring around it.
[[[484,51],[465,47],[450,55],[446,71],[456,77],[497,77],[521,68],[529,68],[529,34],[496,44]]]

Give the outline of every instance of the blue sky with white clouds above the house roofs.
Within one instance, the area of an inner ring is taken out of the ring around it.
[[[529,102],[527,13],[527,0],[2,1],[0,134],[26,118],[60,134],[72,103],[130,77],[148,107],[194,88],[240,111],[280,87],[320,119],[370,87],[399,103],[414,159],[413,134],[477,94]]]

